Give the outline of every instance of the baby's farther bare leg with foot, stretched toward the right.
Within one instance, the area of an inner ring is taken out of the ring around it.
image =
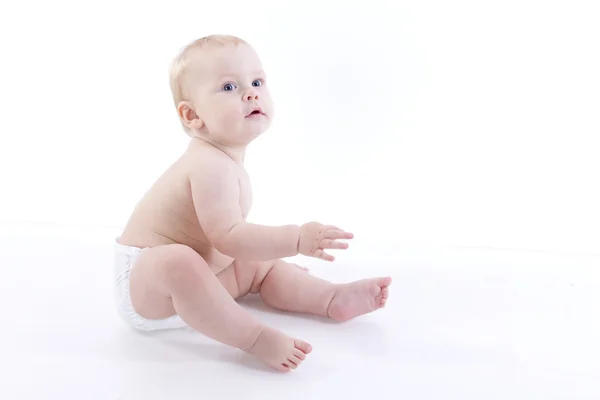
[[[392,279],[380,277],[333,284],[295,264],[277,260],[258,276],[265,303],[282,310],[330,317],[342,322],[382,308]]]

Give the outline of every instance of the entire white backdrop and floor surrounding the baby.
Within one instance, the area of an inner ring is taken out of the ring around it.
[[[349,3],[0,2],[0,398],[600,398],[598,1]],[[169,63],[212,33],[276,99],[252,220],[338,224],[338,263],[299,261],[394,280],[344,325],[242,302],[313,344],[285,377],[110,296],[111,235],[187,144]]]

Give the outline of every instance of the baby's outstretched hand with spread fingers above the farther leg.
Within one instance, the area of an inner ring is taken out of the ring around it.
[[[309,222],[300,227],[298,252],[303,256],[321,258],[333,261],[335,258],[325,253],[325,249],[347,249],[348,244],[336,239],[352,239],[353,234],[345,232],[332,225]]]

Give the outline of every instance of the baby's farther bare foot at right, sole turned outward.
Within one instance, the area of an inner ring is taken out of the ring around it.
[[[329,317],[344,322],[382,308],[391,283],[392,278],[386,277],[339,285],[327,309]]]

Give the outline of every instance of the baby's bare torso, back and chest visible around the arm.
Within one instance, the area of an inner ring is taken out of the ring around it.
[[[184,244],[196,250],[215,273],[227,268],[233,258],[212,247],[198,223],[185,156],[169,168],[136,205],[119,243],[135,247]],[[239,168],[240,207],[244,219],[252,205],[250,179]]]

